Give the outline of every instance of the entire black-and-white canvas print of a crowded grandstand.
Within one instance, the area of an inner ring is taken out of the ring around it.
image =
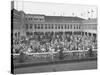
[[[97,6],[11,1],[11,73],[97,69]]]

